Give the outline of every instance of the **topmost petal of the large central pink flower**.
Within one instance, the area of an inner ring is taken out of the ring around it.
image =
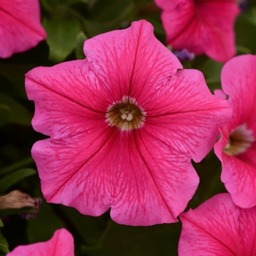
[[[111,89],[113,102],[123,96],[139,100],[182,69],[176,56],[154,37],[153,26],[146,20],[86,40],[84,53],[102,86]]]

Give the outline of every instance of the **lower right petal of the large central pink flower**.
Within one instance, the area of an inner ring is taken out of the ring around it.
[[[116,170],[112,219],[128,225],[176,222],[199,183],[191,162],[178,152],[170,154],[166,144],[143,129],[124,135],[116,146],[122,167]]]

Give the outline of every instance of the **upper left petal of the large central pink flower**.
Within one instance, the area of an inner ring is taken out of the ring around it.
[[[26,74],[25,82],[26,93],[35,102],[32,125],[37,132],[59,139],[108,127],[108,91],[99,87],[88,61],[37,67]]]

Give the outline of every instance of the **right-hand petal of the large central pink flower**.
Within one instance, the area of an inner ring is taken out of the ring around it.
[[[142,104],[148,113],[145,129],[152,136],[159,131],[159,140],[195,162],[208,154],[219,125],[231,116],[230,105],[211,94],[197,70],[179,70],[159,94],[150,96]]]

